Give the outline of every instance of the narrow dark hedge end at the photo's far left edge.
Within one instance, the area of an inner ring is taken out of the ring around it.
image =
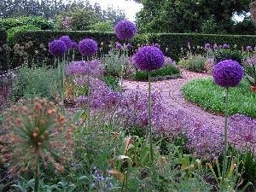
[[[7,32],[0,29],[0,45],[7,44]],[[7,52],[0,46],[0,72],[8,69],[7,65]]]

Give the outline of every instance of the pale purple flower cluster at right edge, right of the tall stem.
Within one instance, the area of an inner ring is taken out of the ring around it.
[[[228,119],[228,136],[230,142],[236,148],[247,147],[252,150],[256,145],[256,119],[252,119],[242,114],[234,114]]]

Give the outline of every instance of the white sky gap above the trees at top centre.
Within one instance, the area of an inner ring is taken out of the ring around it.
[[[101,9],[107,9],[108,7],[113,7],[113,9],[124,9],[128,20],[135,21],[135,15],[138,11],[143,8],[140,3],[135,3],[134,1],[125,0],[89,0],[91,5],[99,3]],[[109,6],[108,6],[109,5]]]

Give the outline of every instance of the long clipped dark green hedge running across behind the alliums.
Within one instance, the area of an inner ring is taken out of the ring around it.
[[[68,35],[73,41],[79,43],[83,38],[93,38],[99,45],[98,55],[108,53],[109,44],[113,46],[115,42],[121,42],[113,32],[73,32],[73,31],[26,31],[26,32],[16,32],[14,35],[14,40],[20,45],[32,42],[32,47],[30,53],[33,53],[37,58],[33,58],[33,61],[41,61],[49,63],[50,65],[54,62],[54,57],[48,52],[49,42],[60,38],[63,35]],[[131,43],[132,51],[130,54],[136,52],[138,47],[147,44],[153,45],[155,43],[160,44],[160,49],[166,56],[171,57],[173,60],[178,61],[183,52],[186,53],[188,49],[187,44],[190,44],[191,49],[193,47],[201,46],[204,47],[205,44],[209,43],[211,45],[218,44],[230,44],[231,48],[236,46],[236,49],[241,49],[241,46],[246,47],[251,45],[256,46],[256,36],[246,36],[246,35],[207,35],[207,34],[197,34],[197,33],[148,33],[148,34],[137,34],[134,38],[125,43]],[[103,43],[103,44],[101,44]],[[44,45],[44,51],[42,48]],[[166,51],[166,48],[168,50]],[[197,51],[205,51],[204,49],[196,49]],[[34,52],[37,51],[35,55]],[[79,58],[79,53],[77,54]],[[46,58],[48,61],[46,61]]]

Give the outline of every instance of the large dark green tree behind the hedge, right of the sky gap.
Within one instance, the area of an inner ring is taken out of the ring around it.
[[[232,33],[234,14],[249,11],[251,0],[142,0],[140,32]]]

